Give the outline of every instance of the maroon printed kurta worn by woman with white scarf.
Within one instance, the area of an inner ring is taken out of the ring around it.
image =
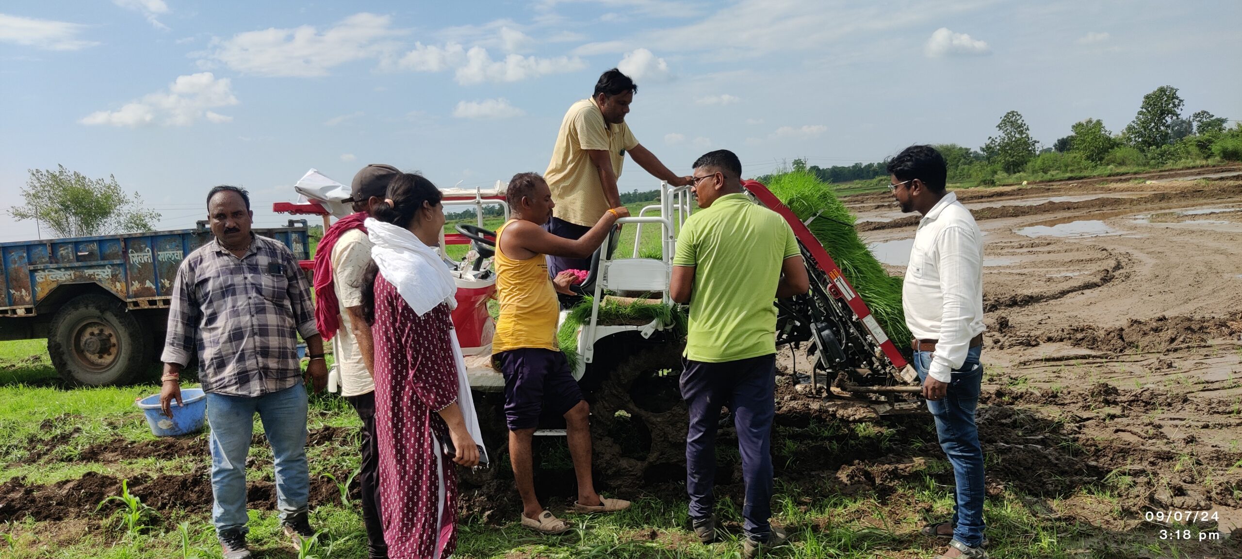
[[[375,278],[375,435],[391,559],[447,558],[457,548],[457,475],[436,442],[448,437],[437,411],[457,401],[452,325],[447,304],[419,317]]]

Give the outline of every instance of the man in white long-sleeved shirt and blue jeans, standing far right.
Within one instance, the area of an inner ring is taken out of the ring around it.
[[[975,407],[984,368],[984,242],[958,196],[945,191],[948,168],[930,145],[912,145],[888,161],[889,186],[903,212],[923,215],[902,287],[913,364],[935,417],[940,447],[953,465],[953,519],[923,528],[953,538],[944,558],[986,558],[984,451]]]

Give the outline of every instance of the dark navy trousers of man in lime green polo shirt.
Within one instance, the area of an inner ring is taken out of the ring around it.
[[[766,542],[771,533],[773,457],[771,429],[776,414],[776,355],[724,363],[683,360],[682,399],[689,412],[686,435],[686,492],[691,518],[712,516],[715,508],[715,431],[720,407],[733,411],[741,453],[741,478],[746,502],[741,506],[741,528],[746,535]]]

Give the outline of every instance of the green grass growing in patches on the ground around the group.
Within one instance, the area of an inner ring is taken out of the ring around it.
[[[607,307],[607,306],[606,306]],[[617,312],[652,313],[656,309],[619,309]],[[152,439],[142,414],[133,406],[133,399],[149,394],[154,385],[127,388],[99,388],[65,390],[56,386],[19,384],[12,379],[45,379],[46,364],[29,361],[37,354],[40,342],[0,343],[0,368],[6,368],[9,381],[0,383],[0,483],[14,476],[27,476],[27,482],[50,483],[71,479],[82,473],[104,472],[119,477],[138,473],[176,473],[207,463],[206,457],[184,457],[174,461],[156,461],[135,456],[119,463],[40,461],[35,465],[15,463],[27,452],[39,448],[57,435],[75,432],[61,447],[58,457],[72,457],[76,448],[113,439],[142,441]],[[46,355],[45,355],[46,359]],[[9,366],[14,365],[14,366]],[[358,426],[353,410],[337,396],[313,396],[310,400],[309,427]],[[72,415],[65,415],[72,414]],[[48,421],[47,429],[40,429]],[[782,430],[785,427],[776,427]],[[836,441],[836,453],[851,453],[867,445],[886,445],[893,436],[892,426],[873,422],[850,426],[837,422],[812,422],[806,427],[827,441]],[[261,424],[256,421],[256,431]],[[927,426],[932,434],[930,422]],[[205,436],[205,435],[200,435]],[[927,435],[934,441],[934,435]],[[777,437],[780,439],[780,437]],[[308,448],[312,476],[332,473],[344,478],[358,467],[356,440],[348,437],[332,445]],[[775,445],[777,460],[780,446]],[[561,452],[564,453],[564,452]],[[257,465],[248,468],[251,476],[271,472],[271,456],[263,447],[251,452]],[[548,461],[548,456],[544,457]],[[718,447],[718,461],[723,465],[738,460],[737,448]],[[559,462],[564,462],[564,456]],[[503,466],[503,460],[502,460]],[[548,467],[546,463],[543,465]],[[564,465],[561,465],[564,466]],[[862,492],[854,496],[838,493],[832,487],[831,476],[822,475],[799,479],[777,478],[773,501],[774,522],[789,528],[794,543],[777,549],[776,558],[847,558],[872,559],[927,558],[943,549],[943,543],[930,542],[918,534],[919,527],[932,519],[948,518],[953,508],[951,488],[939,483],[933,476],[944,476],[948,465],[941,460],[928,460],[923,476],[909,477],[892,494],[879,496]],[[1048,499],[1047,504],[1058,514],[1047,514],[1028,503],[1037,502],[1028,496],[1006,491],[987,499],[985,516],[989,553],[996,558],[1130,558],[1130,557],[1203,557],[1220,554],[1217,547],[1194,547],[1158,540],[1143,529],[1110,532],[1093,527],[1095,517],[1076,507],[1083,502],[1099,502],[1105,514],[1115,517],[1110,504],[1113,494],[1133,483],[1125,476],[1109,476],[1100,487],[1086,487],[1078,494],[1063,499]],[[718,558],[737,557],[740,552],[740,503],[727,496],[718,503],[718,514],[729,529],[723,542],[702,545],[688,529],[684,498],[656,499],[645,497],[642,488],[627,488],[620,497],[633,497],[635,506],[614,516],[576,516],[565,513],[568,502],[553,501],[548,504],[555,513],[569,518],[576,530],[561,537],[538,537],[518,525],[517,518],[497,518],[499,525],[483,524],[477,519],[460,528],[460,558]],[[340,499],[312,511],[312,523],[322,529],[319,558],[365,557],[365,533],[358,502],[344,506]],[[274,512],[251,511],[250,542],[260,558],[294,557],[279,532]],[[5,559],[165,559],[183,557],[183,534],[190,557],[219,558],[219,545],[210,524],[207,507],[195,509],[159,509],[144,520],[150,528],[128,532],[122,511],[99,512],[78,520],[34,522],[15,518],[0,524],[0,557]],[[329,555],[329,549],[330,555]]]

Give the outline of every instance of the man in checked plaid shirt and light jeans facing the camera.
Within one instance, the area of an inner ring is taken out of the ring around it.
[[[251,232],[250,196],[236,186],[207,194],[215,241],[176,271],[164,344],[160,404],[171,417],[181,404],[181,369],[194,352],[211,426],[211,519],[225,559],[250,558],[246,547],[246,455],[255,414],[272,445],[277,508],[294,547],[314,535],[307,520],[307,391],[297,354],[306,339],[314,390],[328,369],[315,328],[310,283],[279,241]]]

